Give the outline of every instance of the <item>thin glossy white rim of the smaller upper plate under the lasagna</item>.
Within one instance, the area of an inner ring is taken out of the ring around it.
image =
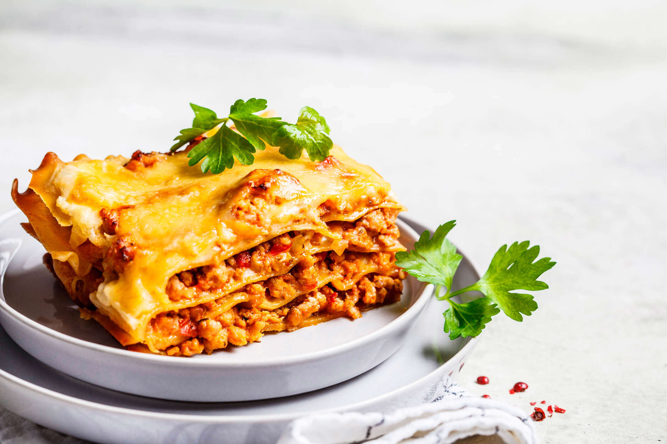
[[[9,212],[0,215],[0,228],[5,224],[7,224],[15,216],[18,216],[20,214],[21,210],[15,208],[14,210],[11,210]],[[408,222],[406,222],[406,220],[398,220],[398,222],[404,225],[400,227],[401,230],[404,230],[404,228],[408,229],[408,235],[414,238],[415,242],[416,240],[419,239],[419,234],[414,230],[414,228],[412,228],[412,226],[410,226],[410,224],[408,224]],[[3,236],[2,238],[0,238],[0,240],[8,238],[10,237]],[[346,351],[354,349],[355,347],[358,347],[363,343],[374,341],[377,337],[382,337],[382,335],[385,335],[387,332],[390,332],[396,328],[400,328],[400,326],[402,326],[412,318],[418,317],[419,314],[422,312],[422,309],[424,309],[424,307],[426,306],[426,304],[428,304],[428,301],[430,300],[430,298],[426,297],[426,295],[432,293],[435,288],[433,284],[426,284],[425,282],[420,282],[422,286],[418,288],[416,292],[414,292],[414,294],[418,295],[416,302],[412,304],[412,306],[408,307],[408,309],[405,312],[396,317],[396,319],[392,320],[391,322],[388,322],[387,324],[378,328],[374,332],[362,335],[358,338],[352,339],[351,341],[347,341],[340,345],[334,345],[333,347],[329,347],[327,349],[317,350],[302,355],[292,355],[289,357],[272,357],[269,359],[265,359],[263,361],[233,361],[225,363],[220,361],[207,361],[205,359],[174,359],[173,356],[163,356],[157,354],[153,355],[149,353],[137,353],[136,351],[114,348],[110,347],[109,345],[103,345],[91,341],[86,341],[85,339],[72,337],[65,333],[57,332],[56,330],[53,330],[47,326],[43,326],[42,324],[39,324],[39,322],[35,322],[30,318],[27,318],[27,316],[21,314],[20,312],[12,308],[9,304],[7,304],[5,300],[3,292],[3,284],[5,282],[5,273],[7,272],[7,267],[9,266],[9,263],[11,262],[13,256],[18,252],[19,248],[21,248],[20,245],[11,254],[11,256],[7,258],[5,264],[0,264],[0,266],[4,265],[2,268],[0,268],[0,310],[3,310],[3,312],[14,318],[14,320],[16,320],[17,322],[21,322],[21,324],[23,324],[27,328],[31,328],[32,330],[37,330],[37,332],[41,334],[49,335],[54,339],[69,343],[70,345],[73,345],[75,347],[83,347],[100,353],[109,353],[111,355],[117,355],[120,357],[133,359],[135,361],[170,365],[171,367],[189,368],[192,366],[196,366],[204,368],[209,367],[214,369],[224,369],[224,368],[238,369],[242,367],[263,368],[263,367],[274,367],[275,365],[289,365],[293,363],[309,363],[312,361],[316,361],[318,359],[323,359],[324,357],[330,355],[338,355],[340,353],[345,353]],[[475,270],[475,272],[477,273],[477,270]]]

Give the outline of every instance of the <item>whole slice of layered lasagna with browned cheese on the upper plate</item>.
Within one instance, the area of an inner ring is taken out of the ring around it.
[[[12,196],[45,264],[123,346],[193,355],[400,299],[402,206],[338,146],[203,174],[175,154],[49,152]]]

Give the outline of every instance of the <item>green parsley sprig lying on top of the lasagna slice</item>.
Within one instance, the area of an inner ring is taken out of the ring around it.
[[[253,153],[263,150],[265,143],[279,146],[279,152],[290,159],[301,157],[305,150],[310,160],[316,162],[324,160],[333,146],[326,120],[310,107],[301,109],[295,124],[284,122],[280,117],[255,114],[266,109],[264,99],[239,99],[231,105],[229,115],[223,118],[218,118],[215,112],[199,105],[191,103],[190,107],[195,112],[192,127],[180,131],[181,134],[174,138],[177,142],[171,151],[220,125],[213,136],[202,140],[187,153],[190,166],[203,160],[202,172],[210,170],[213,174],[219,174],[225,168],[234,166],[234,158],[243,165],[250,165],[255,161]],[[229,120],[238,132],[227,126]]]

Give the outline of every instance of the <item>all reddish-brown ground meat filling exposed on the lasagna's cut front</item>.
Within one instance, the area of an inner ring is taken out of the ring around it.
[[[319,252],[294,264],[293,250],[299,249],[292,247],[303,242],[297,241],[303,232],[288,232],[219,264],[172,276],[166,289],[171,300],[197,298],[202,292],[224,296],[156,316],[149,326],[153,347],[168,355],[211,353],[258,341],[264,332],[293,331],[340,316],[360,318],[364,310],[400,300],[405,274],[394,264],[395,252],[403,249],[397,214],[378,208],[355,222],[329,222],[344,240],[342,254]],[[309,236],[317,245],[321,235]],[[273,277],[227,294],[248,270]]]

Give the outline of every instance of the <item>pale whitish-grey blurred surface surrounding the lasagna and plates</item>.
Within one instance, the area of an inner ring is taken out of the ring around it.
[[[558,262],[463,385],[488,375],[530,411],[506,390],[525,380],[566,408],[545,443],[664,441],[666,23],[657,0],[4,0],[0,210],[49,150],[168,150],[189,102],[309,105],[410,216],[457,219],[478,267],[525,239]]]

